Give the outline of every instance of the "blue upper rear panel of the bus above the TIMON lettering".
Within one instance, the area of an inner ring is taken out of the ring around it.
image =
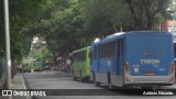
[[[132,35],[129,38],[129,51],[169,51],[170,40],[165,35]]]

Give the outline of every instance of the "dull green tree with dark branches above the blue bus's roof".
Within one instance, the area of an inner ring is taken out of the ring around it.
[[[82,1],[84,2],[84,1]],[[86,25],[97,36],[120,31],[154,30],[162,19],[170,19],[172,0],[87,0]]]

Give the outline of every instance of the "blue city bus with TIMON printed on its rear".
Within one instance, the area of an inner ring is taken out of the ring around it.
[[[91,44],[90,79],[112,86],[153,88],[175,81],[173,35],[123,32]]]

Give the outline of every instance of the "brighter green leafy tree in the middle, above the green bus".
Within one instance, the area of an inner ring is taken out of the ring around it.
[[[85,38],[88,34],[78,0],[57,0],[47,4],[40,25],[30,32],[43,36],[47,47],[58,55],[69,54],[89,44],[90,40]]]

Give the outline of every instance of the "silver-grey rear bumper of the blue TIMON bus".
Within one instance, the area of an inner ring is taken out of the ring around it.
[[[174,85],[175,84],[175,74],[168,76],[124,76],[125,85]]]

